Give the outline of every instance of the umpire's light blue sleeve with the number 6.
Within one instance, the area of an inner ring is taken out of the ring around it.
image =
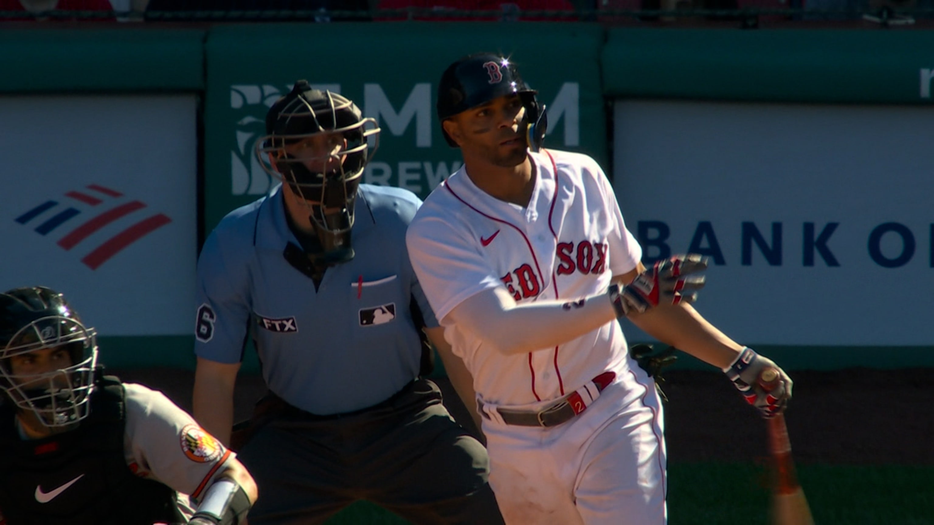
[[[247,343],[249,276],[235,240],[215,230],[198,257],[194,353],[215,362],[242,361]]]

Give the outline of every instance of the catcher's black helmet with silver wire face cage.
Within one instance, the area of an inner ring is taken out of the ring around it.
[[[49,427],[88,416],[97,366],[97,336],[86,328],[64,296],[45,287],[0,294],[0,389],[21,410],[35,412]],[[11,358],[41,348],[65,348],[71,363],[35,375],[17,373]]]

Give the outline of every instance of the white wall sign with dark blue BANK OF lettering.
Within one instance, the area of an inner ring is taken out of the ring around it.
[[[934,107],[618,101],[614,117],[630,231],[649,258],[710,258],[697,307],[725,333],[934,344]]]

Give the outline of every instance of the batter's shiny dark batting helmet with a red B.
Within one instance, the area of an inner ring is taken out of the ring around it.
[[[539,104],[535,96],[538,92],[519,77],[516,64],[496,53],[474,53],[447,66],[438,84],[438,120],[446,121],[471,107],[510,94],[522,99],[526,108],[526,141],[532,151],[537,151],[542,147],[548,126],[545,105]],[[441,133],[447,144],[457,148],[443,126]]]

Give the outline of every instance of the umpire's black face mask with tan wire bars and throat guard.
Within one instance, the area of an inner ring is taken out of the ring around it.
[[[364,119],[346,97],[314,90],[306,80],[266,114],[266,134],[256,142],[263,169],[288,184],[308,206],[325,262],[353,258],[350,231],[363,168],[379,146],[375,119]],[[372,145],[371,145],[372,143]]]

